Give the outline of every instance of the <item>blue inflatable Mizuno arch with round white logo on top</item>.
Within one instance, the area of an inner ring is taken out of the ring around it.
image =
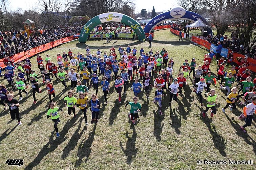
[[[196,22],[197,20],[201,20],[205,25],[209,25],[209,23],[200,15],[195,12],[191,12],[185,10],[183,7],[174,7],[171,10],[160,13],[159,15],[155,16],[144,28],[145,33],[150,33],[153,28],[166,20],[189,20],[192,22]],[[207,31],[209,34],[212,34],[211,28],[201,28],[202,31]]]

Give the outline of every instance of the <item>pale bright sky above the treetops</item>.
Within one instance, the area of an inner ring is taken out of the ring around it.
[[[23,10],[33,9],[37,7],[38,0],[8,0],[10,9],[12,11],[21,8]],[[145,1],[147,3],[145,3]],[[135,3],[135,13],[139,13],[143,8],[147,11],[152,11],[153,6],[155,6],[156,12],[161,12],[169,10],[171,7],[176,6],[175,0],[134,0]],[[156,3],[157,2],[157,3]]]

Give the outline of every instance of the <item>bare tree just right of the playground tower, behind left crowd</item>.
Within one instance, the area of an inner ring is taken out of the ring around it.
[[[59,0],[38,0],[38,8],[40,13],[40,21],[42,24],[53,29],[55,25],[60,24],[60,8]]]

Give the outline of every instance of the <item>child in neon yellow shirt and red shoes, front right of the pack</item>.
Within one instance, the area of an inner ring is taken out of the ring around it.
[[[207,96],[207,106],[206,109],[202,111],[202,116],[205,117],[206,112],[208,112],[208,110],[211,109],[211,117],[213,117],[213,114],[216,114],[215,104],[217,102],[217,94],[215,94],[214,89],[211,89]]]

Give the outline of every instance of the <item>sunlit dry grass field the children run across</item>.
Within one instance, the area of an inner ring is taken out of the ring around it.
[[[165,48],[169,57],[174,59],[174,77],[177,77],[178,68],[185,59],[196,58],[202,64],[205,48],[190,44],[190,41],[177,42],[178,36],[169,30],[156,31],[152,41],[152,49],[161,51]],[[87,46],[92,54],[98,48],[102,52],[109,52],[111,46],[115,49],[119,45],[143,47],[149,51],[148,42],[118,40],[106,44],[105,41],[88,41]],[[58,53],[71,49],[73,53],[85,53],[85,44],[72,41],[50,51],[42,53],[55,59]],[[36,57],[30,59],[32,68],[38,70]],[[216,63],[211,66],[216,70]],[[39,71],[39,70],[38,70]],[[214,72],[215,73],[215,72]],[[100,77],[101,78],[101,77]],[[1,78],[1,83],[7,85]],[[39,82],[42,83],[41,76]],[[21,126],[17,120],[10,119],[9,111],[0,112],[0,169],[255,169],[254,165],[198,165],[197,160],[253,160],[256,153],[255,122],[247,128],[248,134],[239,130],[244,122],[238,119],[242,107],[237,107],[233,113],[227,109],[224,114],[221,108],[226,105],[226,92],[220,91],[219,86],[211,85],[216,89],[217,114],[213,118],[210,114],[201,117],[200,102],[192,92],[191,78],[185,92],[179,95],[178,103],[168,106],[169,92],[163,97],[163,116],[158,115],[157,106],[153,103],[155,89],[151,91],[150,99],[145,94],[139,95],[142,112],[136,126],[128,122],[127,113],[130,107],[125,108],[127,101],[132,101],[133,92],[122,94],[122,103],[118,103],[118,94],[114,91],[111,82],[108,105],[101,105],[98,124],[85,126],[84,117],[80,109],[76,109],[78,116],[74,118],[67,114],[64,106],[64,90],[61,82],[54,79],[56,97],[53,99],[57,106],[64,109],[60,114],[58,124],[60,137],[56,138],[54,123],[47,119],[46,112],[49,102],[45,85],[41,94],[36,94],[37,104],[33,105],[31,87],[27,89],[29,96],[20,102]],[[70,85],[70,82],[67,82]],[[131,84],[130,84],[131,85]],[[129,85],[129,87],[130,87]],[[89,96],[95,90],[90,88]],[[15,90],[18,99],[18,90]],[[104,96],[99,89],[99,100],[104,102]],[[203,95],[206,103],[206,95]],[[3,106],[1,106],[3,110]],[[87,112],[88,120],[91,112]],[[22,167],[7,166],[6,159],[24,159]]]

